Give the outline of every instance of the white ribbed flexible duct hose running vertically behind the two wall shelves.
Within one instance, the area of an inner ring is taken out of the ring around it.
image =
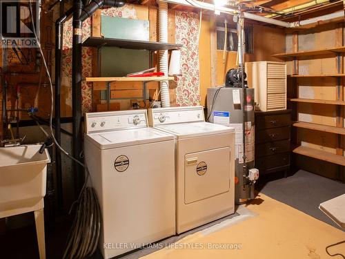
[[[159,1],[159,42],[168,42],[168,3]],[[168,76],[168,50],[159,51],[159,72]],[[161,106],[170,107],[169,83],[161,81]]]

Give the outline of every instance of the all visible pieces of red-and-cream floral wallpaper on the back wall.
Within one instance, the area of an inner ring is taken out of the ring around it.
[[[101,15],[137,19],[137,12],[132,5],[122,8],[103,8]],[[199,15],[194,12],[176,12],[175,42],[182,44],[181,76],[177,78],[177,106],[199,105],[199,50],[197,32],[199,30]],[[83,22],[83,41],[91,34],[91,19]],[[66,82],[71,92],[72,86],[72,19],[63,25],[62,81]],[[82,49],[82,77],[92,77],[92,50]],[[81,83],[82,111],[92,111],[92,83]],[[71,99],[71,93],[67,99]]]

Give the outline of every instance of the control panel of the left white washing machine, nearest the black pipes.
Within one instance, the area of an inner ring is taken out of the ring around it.
[[[86,133],[115,131],[148,126],[146,110],[86,113]]]

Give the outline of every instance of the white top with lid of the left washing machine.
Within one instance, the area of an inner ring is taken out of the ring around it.
[[[123,131],[89,133],[85,137],[99,149],[134,146],[174,139],[173,135],[157,131],[155,128],[132,128]]]

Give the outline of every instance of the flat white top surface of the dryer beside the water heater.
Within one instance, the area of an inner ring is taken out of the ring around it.
[[[191,123],[179,123],[179,124],[166,124],[159,125],[155,128],[159,128],[168,133],[176,135],[178,138],[184,137],[199,137],[204,135],[214,135],[220,133],[235,132],[235,128],[227,127],[219,124],[213,124],[210,122],[191,122]]]

